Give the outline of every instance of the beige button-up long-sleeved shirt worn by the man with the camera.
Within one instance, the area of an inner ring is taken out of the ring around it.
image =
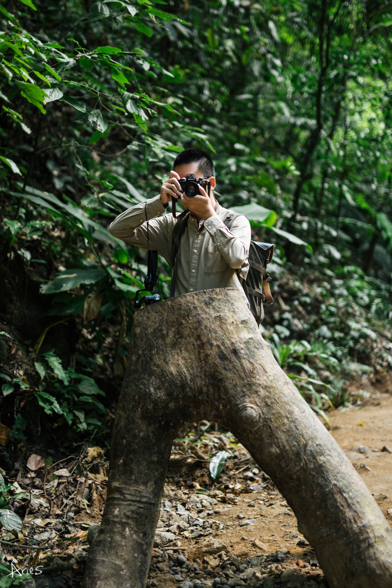
[[[114,237],[142,249],[156,249],[173,267],[172,233],[175,223],[172,214],[166,213],[159,196],[136,204],[120,214],[109,226]],[[250,246],[250,225],[245,216],[234,219],[231,230],[223,223],[226,208],[219,206],[216,214],[200,226],[189,215],[185,233],[177,253],[175,296],[212,288],[237,288],[243,292],[236,269],[246,276]],[[158,218],[155,216],[161,214]],[[149,244],[147,223],[149,220]],[[244,299],[247,302],[246,296]]]

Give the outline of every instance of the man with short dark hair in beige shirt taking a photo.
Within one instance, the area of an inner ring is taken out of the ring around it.
[[[179,180],[191,173],[197,179],[208,178],[210,196],[202,186],[199,186],[200,194],[191,198],[181,192]],[[169,214],[154,217],[165,212],[170,200],[179,199],[190,215],[177,252],[171,295],[211,288],[237,288],[243,292],[236,270],[242,268],[242,276],[246,276],[251,235],[249,220],[237,216],[229,230],[223,222],[229,211],[217,203],[215,187],[215,169],[210,156],[202,149],[185,149],[177,155],[160,195],[132,206],[109,226],[113,236],[142,249],[158,250],[173,267],[172,233],[178,221]],[[244,301],[248,303],[245,295]]]

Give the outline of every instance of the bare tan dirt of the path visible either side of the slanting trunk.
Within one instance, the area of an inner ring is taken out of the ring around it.
[[[329,418],[331,435],[349,457],[392,525],[392,515],[388,514],[388,510],[392,509],[392,397],[378,393],[372,395],[366,405],[336,410],[330,413]],[[173,484],[169,482],[169,486],[173,487]],[[297,530],[292,510],[273,485],[267,485],[259,492],[240,493],[235,502],[219,505],[213,515],[216,521],[224,524],[222,530],[213,532],[213,537],[230,547],[231,554],[249,559],[262,552],[274,553],[286,547],[290,550],[287,564],[314,556]],[[244,519],[239,518],[242,516]],[[243,520],[250,520],[251,524],[240,526]],[[179,540],[181,545],[175,553],[183,553],[191,560],[197,558],[198,540],[185,537],[179,537]],[[304,566],[301,572],[317,576],[319,580],[323,578],[316,565]]]

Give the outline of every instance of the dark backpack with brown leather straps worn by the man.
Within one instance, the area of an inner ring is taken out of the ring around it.
[[[172,234],[172,259],[174,261],[172,283],[170,285],[170,298],[173,298],[176,288],[176,276],[177,276],[177,252],[180,248],[180,239],[185,233],[186,225],[189,218],[189,212],[185,215],[180,215],[176,222],[175,228]],[[230,212],[223,219],[223,222],[230,230],[234,220],[239,215],[237,212]],[[258,241],[251,241],[249,248],[249,271],[247,272],[246,279],[241,275],[241,269],[237,269],[237,276],[240,279],[246,298],[249,300],[250,312],[256,319],[257,325],[260,325],[264,318],[264,308],[262,302],[266,306],[271,306],[273,298],[269,286],[269,282],[272,278],[267,273],[267,264],[272,260],[274,252],[274,246],[272,243],[261,243]],[[262,292],[264,286],[264,293]]]

